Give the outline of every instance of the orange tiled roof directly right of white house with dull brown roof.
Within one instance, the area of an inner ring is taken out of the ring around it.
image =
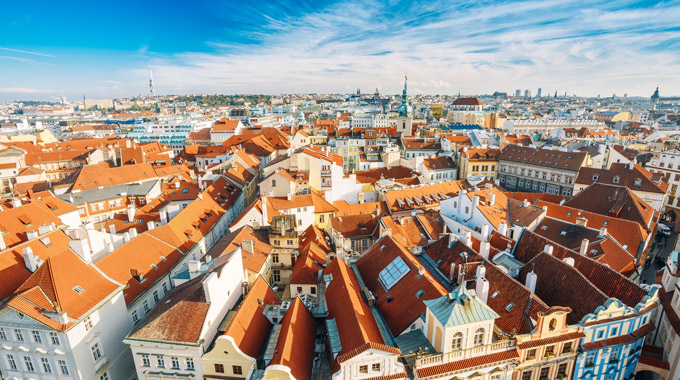
[[[236,346],[251,358],[260,356],[272,328],[271,322],[264,315],[264,307],[272,304],[279,305],[281,300],[267,281],[258,276],[224,332],[224,335],[230,336]]]

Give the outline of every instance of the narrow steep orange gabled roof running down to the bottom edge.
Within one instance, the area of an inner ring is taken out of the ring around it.
[[[310,380],[315,339],[314,318],[300,298],[295,298],[281,321],[281,332],[269,366],[286,366],[294,379]]]

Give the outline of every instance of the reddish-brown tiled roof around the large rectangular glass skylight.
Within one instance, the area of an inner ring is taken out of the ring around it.
[[[391,288],[386,289],[379,280],[380,272],[400,258],[408,272]],[[356,262],[364,283],[375,297],[375,303],[392,334],[398,335],[425,311],[423,300],[441,297],[448,293],[429,270],[391,236],[380,239]],[[419,292],[422,291],[422,294]],[[420,295],[419,295],[420,294]]]

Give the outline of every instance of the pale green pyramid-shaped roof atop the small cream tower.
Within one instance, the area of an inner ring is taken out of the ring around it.
[[[445,327],[461,326],[500,317],[477,298],[475,291],[460,285],[445,296],[423,302]]]

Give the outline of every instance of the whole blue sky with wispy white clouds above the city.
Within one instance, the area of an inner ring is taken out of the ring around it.
[[[156,92],[680,95],[680,0],[5,1],[0,101]]]

